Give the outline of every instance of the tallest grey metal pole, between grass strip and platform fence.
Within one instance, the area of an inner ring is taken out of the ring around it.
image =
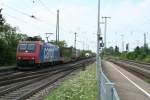
[[[97,22],[97,55],[96,55],[96,76],[97,76],[97,84],[98,84],[98,95],[97,100],[100,100],[100,44],[99,44],[99,37],[100,37],[100,0],[98,0],[98,22]]]

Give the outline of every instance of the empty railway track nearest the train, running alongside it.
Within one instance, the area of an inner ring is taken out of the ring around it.
[[[56,66],[53,66],[50,68],[45,68],[42,70],[25,71],[25,72],[18,71],[18,72],[13,73],[13,74],[1,76],[0,77],[0,86],[9,85],[9,84],[12,84],[15,82],[20,82],[23,80],[33,79],[33,78],[39,77],[40,75],[42,75],[44,73],[52,72],[55,70],[60,70],[60,69],[64,69],[67,67],[70,68],[70,66],[75,66],[75,65],[82,63],[84,61],[87,61],[87,60],[89,60],[89,59],[81,60],[81,61],[74,62],[74,63],[68,63],[68,64],[64,64],[64,65],[56,65]]]

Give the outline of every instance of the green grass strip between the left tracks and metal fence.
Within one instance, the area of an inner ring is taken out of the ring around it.
[[[95,64],[92,64],[85,71],[71,76],[44,100],[95,100],[97,95],[95,73]]]

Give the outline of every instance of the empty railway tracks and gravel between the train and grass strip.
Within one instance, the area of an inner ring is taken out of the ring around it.
[[[72,64],[65,64],[57,68],[48,68],[41,71],[30,72],[23,76],[13,76],[13,78],[3,77],[0,82],[0,100],[24,100],[32,96],[37,91],[53,84],[57,80],[65,77],[74,70],[93,62],[95,58],[81,60]],[[24,73],[25,74],[25,73]],[[7,80],[8,79],[8,80]],[[4,84],[6,83],[6,84]]]

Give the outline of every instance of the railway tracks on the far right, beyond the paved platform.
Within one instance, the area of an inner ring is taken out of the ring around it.
[[[119,65],[120,67],[123,67],[124,69],[142,78],[143,80],[150,79],[150,65],[148,63],[138,63],[135,61],[113,59],[109,61]]]

